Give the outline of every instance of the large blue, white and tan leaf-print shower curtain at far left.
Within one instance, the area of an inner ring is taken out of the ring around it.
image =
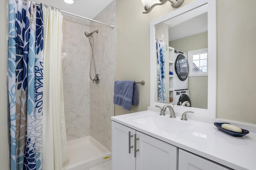
[[[8,31],[11,170],[41,170],[42,4],[9,0]]]

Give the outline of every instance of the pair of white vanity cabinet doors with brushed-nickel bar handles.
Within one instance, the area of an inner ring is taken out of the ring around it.
[[[177,152],[173,145],[112,121],[112,170],[176,170]]]

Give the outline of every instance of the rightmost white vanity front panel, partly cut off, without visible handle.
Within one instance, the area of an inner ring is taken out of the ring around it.
[[[230,170],[220,164],[179,149],[179,170]]]

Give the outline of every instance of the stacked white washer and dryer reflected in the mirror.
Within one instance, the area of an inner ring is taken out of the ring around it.
[[[188,58],[187,54],[174,49],[174,104],[191,107],[188,91]]]

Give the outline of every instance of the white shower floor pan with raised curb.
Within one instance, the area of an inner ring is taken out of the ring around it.
[[[86,170],[111,159],[111,152],[92,137],[68,141],[69,163],[63,170]]]

